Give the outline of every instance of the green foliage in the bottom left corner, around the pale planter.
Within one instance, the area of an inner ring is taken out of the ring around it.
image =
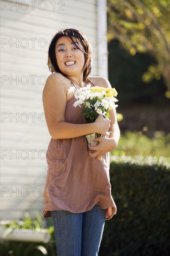
[[[43,220],[39,213],[36,213],[35,218],[31,218],[28,213],[25,214],[22,221],[13,220],[11,222],[1,222],[1,225],[5,225],[9,229],[9,232],[17,229],[18,233],[21,232],[24,236],[24,229],[32,229],[33,234],[35,231],[39,232],[43,227],[46,226],[43,223]],[[55,247],[55,238],[53,232],[52,222],[48,223],[49,228],[46,229],[46,232],[51,234],[51,240],[49,243],[40,243],[40,242],[23,242],[23,241],[0,241],[0,252],[2,256],[56,256],[56,247]],[[3,230],[1,230],[2,232]],[[2,234],[2,233],[1,233]]]

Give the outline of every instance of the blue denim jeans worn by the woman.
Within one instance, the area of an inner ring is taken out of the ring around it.
[[[105,212],[98,205],[83,213],[51,211],[57,256],[97,256]]]

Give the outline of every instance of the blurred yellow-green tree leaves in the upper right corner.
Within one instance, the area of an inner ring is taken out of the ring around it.
[[[151,64],[144,80],[160,80],[169,88],[170,79],[170,1],[108,0],[108,39],[118,39],[132,56],[151,54]],[[170,90],[170,88],[169,88]],[[169,94],[168,94],[169,95]]]

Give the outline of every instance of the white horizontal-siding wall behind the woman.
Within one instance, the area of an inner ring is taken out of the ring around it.
[[[46,66],[50,40],[64,27],[83,31],[93,48],[92,75],[97,75],[97,24],[97,9],[91,0],[55,1],[55,6],[54,1],[37,1],[34,7],[28,0],[1,1],[3,220],[22,218],[25,211],[31,215],[35,210],[41,213],[44,204],[45,153],[50,135],[43,114],[42,91],[50,74]]]

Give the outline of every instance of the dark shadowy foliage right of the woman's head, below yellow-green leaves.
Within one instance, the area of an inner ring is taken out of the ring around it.
[[[108,50],[109,81],[118,91],[118,111],[132,104],[168,104],[163,77],[158,80],[154,76],[152,79],[144,76],[148,68],[157,65],[154,56],[148,53],[132,56],[117,39],[110,41]]]

